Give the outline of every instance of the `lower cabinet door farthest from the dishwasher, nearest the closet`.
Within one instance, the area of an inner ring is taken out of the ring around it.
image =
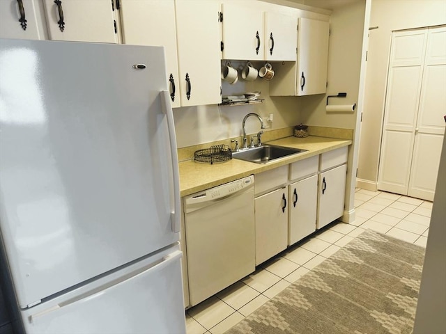
[[[323,228],[344,214],[347,165],[319,174],[317,228]]]

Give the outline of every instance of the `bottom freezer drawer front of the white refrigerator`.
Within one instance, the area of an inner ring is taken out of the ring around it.
[[[185,333],[182,253],[176,249],[123,270],[118,278],[22,311],[26,333]]]

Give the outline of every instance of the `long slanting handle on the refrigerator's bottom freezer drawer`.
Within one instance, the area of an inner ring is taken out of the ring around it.
[[[79,301],[86,301],[88,299],[94,298],[95,296],[100,296],[101,294],[104,294],[107,291],[112,291],[114,289],[117,289],[120,285],[128,283],[129,280],[132,280],[133,278],[143,275],[143,274],[149,274],[153,273],[155,271],[160,271],[164,269],[165,267],[169,266],[172,261],[178,260],[183,255],[183,253],[180,250],[175,250],[173,253],[170,253],[168,255],[165,255],[162,257],[160,262],[158,262],[155,265],[150,265],[148,267],[141,268],[137,270],[134,273],[130,273],[128,275],[125,275],[118,280],[115,280],[112,283],[108,283],[105,285],[102,285],[102,287],[96,287],[95,289],[92,289],[89,292],[85,292],[84,294],[80,294],[79,296],[76,296],[72,299],[68,299],[67,301],[63,301],[62,303],[59,303],[57,305],[53,305],[50,308],[47,308],[46,310],[42,310],[34,315],[31,315],[29,317],[29,320],[31,323],[36,324],[37,321],[39,321],[39,318],[49,315],[49,313],[61,311],[63,308],[65,308],[68,305],[72,305],[74,303],[77,303]]]

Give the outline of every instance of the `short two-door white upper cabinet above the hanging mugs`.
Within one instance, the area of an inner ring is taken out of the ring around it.
[[[295,61],[297,15],[294,8],[223,3],[224,59]],[[284,10],[288,13],[282,13]]]

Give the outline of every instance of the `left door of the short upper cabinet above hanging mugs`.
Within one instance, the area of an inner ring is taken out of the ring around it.
[[[238,3],[224,3],[222,13],[223,58],[263,60],[263,10]]]

